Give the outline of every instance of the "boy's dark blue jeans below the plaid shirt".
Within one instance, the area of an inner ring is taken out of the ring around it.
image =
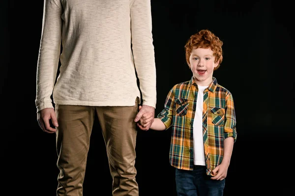
[[[223,196],[225,179],[212,180],[206,166],[194,166],[193,171],[176,169],[177,196]]]

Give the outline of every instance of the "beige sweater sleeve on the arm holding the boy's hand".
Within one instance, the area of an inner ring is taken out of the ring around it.
[[[133,0],[130,5],[132,51],[143,104],[156,106],[156,69],[150,0]]]

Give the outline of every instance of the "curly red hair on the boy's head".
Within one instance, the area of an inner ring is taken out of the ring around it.
[[[222,45],[223,42],[217,36],[215,36],[214,33],[207,29],[200,30],[198,33],[193,34],[184,46],[187,64],[189,65],[189,57],[193,49],[210,48],[213,51],[213,56],[215,57],[214,62],[218,62],[218,66],[214,68],[214,70],[217,70],[220,67],[223,59]]]

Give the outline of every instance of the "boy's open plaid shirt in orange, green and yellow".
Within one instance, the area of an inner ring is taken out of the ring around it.
[[[157,116],[168,129],[172,126],[170,164],[178,169],[193,170],[193,123],[197,104],[198,85],[190,81],[175,85],[169,92],[165,109]],[[232,94],[213,82],[204,91],[203,141],[207,175],[223,158],[223,141],[234,137],[236,142],[236,115]]]

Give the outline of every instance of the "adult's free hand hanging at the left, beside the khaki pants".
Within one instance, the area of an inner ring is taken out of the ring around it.
[[[50,126],[50,120],[55,128]],[[55,133],[59,126],[56,113],[53,108],[44,108],[37,113],[37,121],[40,128],[47,133]]]

